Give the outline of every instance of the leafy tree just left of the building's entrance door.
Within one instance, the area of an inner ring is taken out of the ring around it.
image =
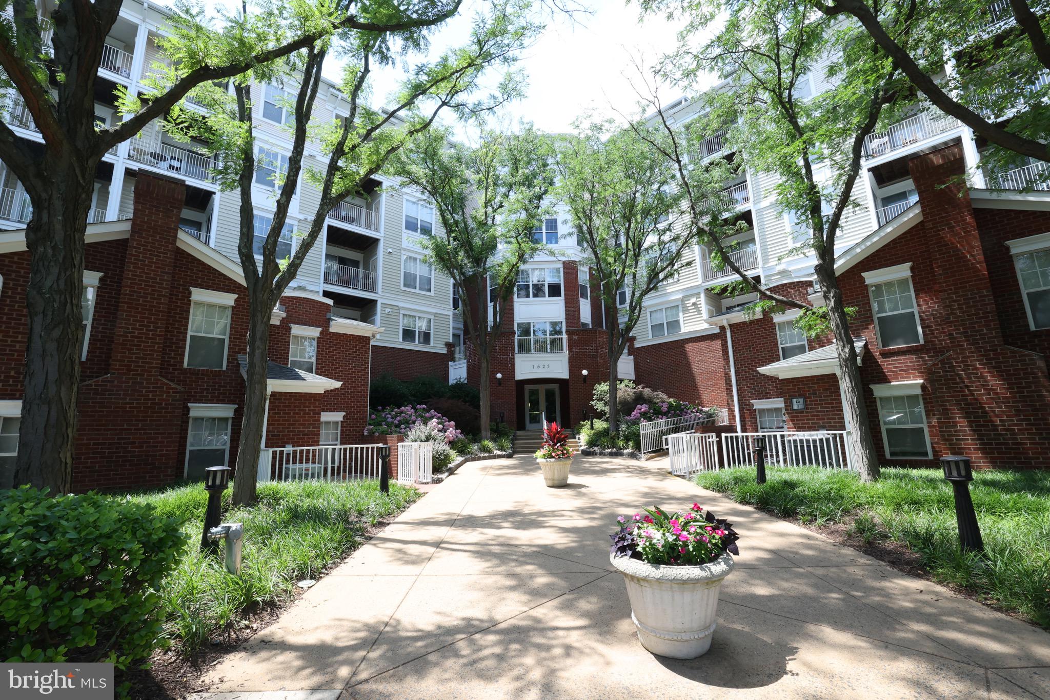
[[[543,249],[532,230],[553,186],[553,150],[531,126],[517,133],[484,130],[472,148],[450,135],[432,129],[402,152],[393,172],[429,197],[440,217],[442,232],[423,247],[427,261],[461,290],[463,326],[481,373],[481,438],[487,440],[492,353],[518,271]]]

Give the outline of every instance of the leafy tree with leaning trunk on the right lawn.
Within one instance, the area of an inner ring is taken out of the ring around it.
[[[652,0],[645,5],[652,12],[670,3]],[[695,50],[690,39],[709,27],[722,9],[728,10],[724,24]],[[843,216],[857,206],[853,193],[864,139],[875,129],[884,105],[907,99],[906,90],[902,94],[900,89],[903,81],[895,62],[870,38],[848,23],[822,16],[804,0],[744,0],[729,6],[721,0],[696,0],[689,3],[689,29],[681,46],[667,58],[665,70],[686,83],[704,70],[727,77],[718,90],[706,97],[707,121],[712,127],[728,125],[728,139],[749,167],[777,176],[777,207],[797,221],[789,255],[815,257],[814,271],[826,306],[813,307],[763,287],[727,255],[718,236],[706,236],[705,242],[739,277],[734,285],[737,293],[759,295],[758,309],[801,309],[797,324],[810,335],[831,330],[853,434],[854,464],[865,481],[878,479],[879,463],[849,332],[850,310],[842,301],[835,276],[835,245]],[[800,82],[824,60],[830,61],[824,70],[832,86],[808,97]],[[678,145],[681,136],[658,100],[653,103],[672,146],[651,143],[675,164],[688,206],[695,207],[705,195],[694,192],[685,155],[689,149]]]

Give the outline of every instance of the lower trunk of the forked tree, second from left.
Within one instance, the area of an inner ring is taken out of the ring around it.
[[[245,417],[240,423],[237,469],[233,482],[235,506],[249,506],[255,503],[255,486],[267,411],[267,363],[272,311],[272,304],[266,302],[268,296],[264,292],[249,294],[248,370],[245,379]]]

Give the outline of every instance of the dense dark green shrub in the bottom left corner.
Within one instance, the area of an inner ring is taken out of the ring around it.
[[[7,661],[127,669],[163,633],[156,590],[186,549],[181,522],[146,504],[29,487],[0,508],[0,623]]]

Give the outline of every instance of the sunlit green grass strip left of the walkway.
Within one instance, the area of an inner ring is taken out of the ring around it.
[[[231,509],[231,491],[224,493],[223,522],[244,525],[239,576],[227,573],[222,555],[198,550],[208,501],[201,484],[128,496],[184,521],[190,546],[160,594],[166,634],[187,655],[246,624],[261,607],[290,598],[296,581],[316,578],[361,544],[366,527],[419,497],[397,484],[383,495],[378,482],[272,483],[259,484],[255,506]]]

